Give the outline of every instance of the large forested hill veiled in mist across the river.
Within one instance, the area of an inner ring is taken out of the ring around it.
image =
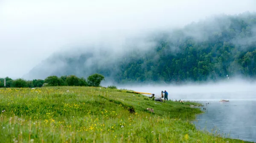
[[[153,46],[133,48],[122,56],[88,48],[76,54],[56,53],[24,77],[100,73],[117,83],[256,78],[256,14],[222,15],[148,37]]]

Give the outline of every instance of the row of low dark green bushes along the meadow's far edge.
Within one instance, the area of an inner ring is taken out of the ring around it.
[[[42,87],[42,86],[90,86],[99,87],[102,80],[105,79],[101,74],[93,74],[87,79],[79,78],[75,75],[70,76],[48,76],[46,79],[11,79],[6,77],[6,87]],[[4,87],[4,79],[0,78],[0,87]]]

